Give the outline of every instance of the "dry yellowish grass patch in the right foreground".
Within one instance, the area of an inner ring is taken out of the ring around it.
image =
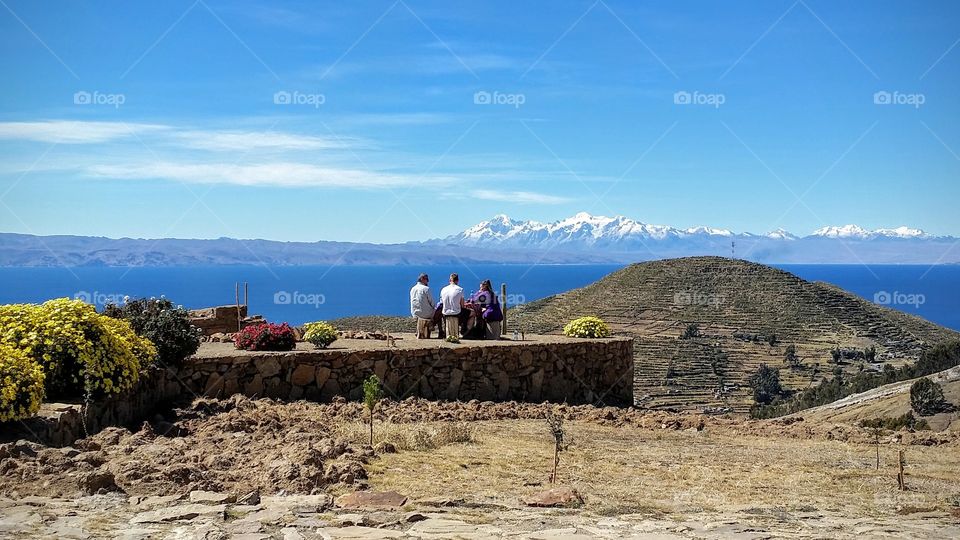
[[[547,484],[553,439],[542,421],[474,423],[473,443],[409,450],[367,464],[375,489],[414,498],[465,497],[515,504]],[[418,430],[442,430],[418,425]],[[409,425],[381,426],[388,432]],[[897,491],[896,446],[881,449],[831,440],[802,440],[703,431],[568,424],[572,446],[559,482],[586,498],[586,510],[613,515],[682,517],[701,512],[827,512],[889,516],[956,513],[960,508],[960,452],[949,447],[907,448],[908,491]],[[429,481],[424,481],[429,479]]]

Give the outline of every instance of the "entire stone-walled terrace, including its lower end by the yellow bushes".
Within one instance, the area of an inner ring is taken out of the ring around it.
[[[203,343],[179,368],[144,373],[131,389],[89,404],[45,403],[37,416],[9,426],[0,439],[73,444],[108,426],[136,426],[171,403],[234,394],[282,400],[359,400],[376,374],[385,396],[450,401],[524,401],[629,406],[633,340],[527,334],[523,341],[418,340],[395,334],[345,339],[327,349],[297,343],[293,351],[241,351]]]

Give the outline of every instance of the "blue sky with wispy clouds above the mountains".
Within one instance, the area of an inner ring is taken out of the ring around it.
[[[2,0],[0,231],[960,235],[958,41],[951,1]]]

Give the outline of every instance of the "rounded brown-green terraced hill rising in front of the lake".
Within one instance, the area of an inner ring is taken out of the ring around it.
[[[841,368],[853,373],[914,362],[927,347],[960,337],[832,285],[720,257],[634,264],[519,306],[509,322],[550,333],[585,315],[634,338],[636,403],[671,409],[747,411],[747,380],[761,363],[780,368],[785,387],[800,389],[832,376],[837,348]],[[690,325],[699,333],[685,338]],[[788,345],[796,347],[797,367],[785,363]],[[874,362],[861,356],[869,347]]]

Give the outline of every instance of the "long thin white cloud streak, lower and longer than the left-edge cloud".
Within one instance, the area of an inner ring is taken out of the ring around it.
[[[255,165],[183,163],[175,161],[91,165],[88,176],[111,179],[163,179],[197,184],[240,186],[324,187],[375,189],[411,185],[446,185],[452,178],[276,162]]]

